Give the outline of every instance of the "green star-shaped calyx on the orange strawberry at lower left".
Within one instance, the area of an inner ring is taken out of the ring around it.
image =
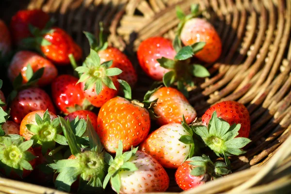
[[[54,149],[56,143],[67,145],[65,136],[60,135],[62,128],[59,118],[51,120],[47,110],[43,118],[35,114],[35,121],[36,125],[27,124],[26,127],[33,134],[31,139],[34,142],[34,146],[41,146],[43,155],[47,153],[48,149]]]

